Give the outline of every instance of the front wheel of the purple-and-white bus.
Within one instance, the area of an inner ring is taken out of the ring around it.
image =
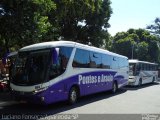
[[[78,99],[78,90],[76,87],[72,87],[69,91],[69,98],[68,98],[68,102],[69,104],[74,104],[77,102]]]

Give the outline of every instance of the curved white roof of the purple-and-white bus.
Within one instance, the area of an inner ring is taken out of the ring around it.
[[[113,55],[113,56],[117,56],[117,57],[124,57],[124,58],[128,59],[126,56],[119,55],[119,54],[110,52],[108,50],[96,48],[96,47],[89,46],[89,45],[84,45],[84,44],[77,43],[77,42],[71,42],[71,41],[51,41],[51,42],[37,43],[37,44],[23,47],[19,51],[32,51],[32,50],[47,49],[47,48],[53,48],[53,47],[59,47],[59,46],[76,47],[76,48],[95,51],[95,52],[99,52],[99,53],[107,53],[108,55]]]

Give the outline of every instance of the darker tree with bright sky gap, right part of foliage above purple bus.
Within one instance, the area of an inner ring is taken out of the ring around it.
[[[55,0],[60,34],[65,40],[102,46],[112,13],[110,0]]]

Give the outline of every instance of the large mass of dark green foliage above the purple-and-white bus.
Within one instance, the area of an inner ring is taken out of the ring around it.
[[[103,46],[109,40],[110,4],[110,0],[1,0],[5,15],[0,16],[0,50],[59,38]]]

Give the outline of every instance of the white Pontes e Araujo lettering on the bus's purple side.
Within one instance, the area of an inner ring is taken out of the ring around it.
[[[93,75],[78,75],[78,81],[80,84],[95,84],[95,83],[104,83],[104,82],[112,82],[113,76],[112,75],[100,75],[100,76],[93,76]]]

